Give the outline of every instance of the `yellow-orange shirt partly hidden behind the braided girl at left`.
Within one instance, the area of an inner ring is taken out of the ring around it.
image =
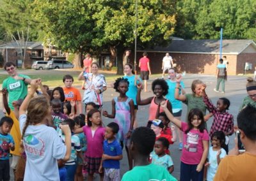
[[[20,140],[21,140],[21,134],[20,134],[20,125],[19,120],[15,117],[15,113],[11,110],[10,115],[6,113],[6,116],[12,118],[13,120],[13,126],[10,131],[10,134],[13,137],[14,143],[15,143],[15,150],[10,150],[10,153],[15,156],[20,156]]]

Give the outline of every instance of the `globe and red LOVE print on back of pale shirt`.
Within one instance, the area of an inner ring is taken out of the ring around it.
[[[44,157],[45,143],[40,138],[36,138],[31,134],[24,136],[24,147],[26,154],[35,157]]]

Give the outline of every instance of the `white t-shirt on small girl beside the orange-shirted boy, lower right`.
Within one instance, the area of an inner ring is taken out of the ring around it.
[[[212,147],[209,148],[208,160],[210,165],[207,170],[207,181],[213,180],[216,174],[218,168],[217,153],[218,151],[214,151]],[[221,148],[220,159],[222,159],[225,156],[227,156],[227,153],[223,148]]]

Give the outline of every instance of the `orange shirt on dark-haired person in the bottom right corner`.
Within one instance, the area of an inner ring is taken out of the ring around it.
[[[255,181],[256,155],[245,152],[239,156],[226,156],[220,162],[214,181]]]

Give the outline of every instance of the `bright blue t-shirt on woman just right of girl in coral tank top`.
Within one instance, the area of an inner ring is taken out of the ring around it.
[[[176,82],[172,82],[171,80],[166,80],[166,82],[169,89],[168,94],[166,94],[165,98],[168,99],[170,103],[172,103],[172,112],[179,112],[180,110],[182,110],[182,102],[174,98]],[[184,89],[184,82],[181,81],[180,86],[182,87],[182,89]],[[180,92],[181,90],[179,91],[179,94]],[[177,109],[177,111],[175,111],[175,109]]]

